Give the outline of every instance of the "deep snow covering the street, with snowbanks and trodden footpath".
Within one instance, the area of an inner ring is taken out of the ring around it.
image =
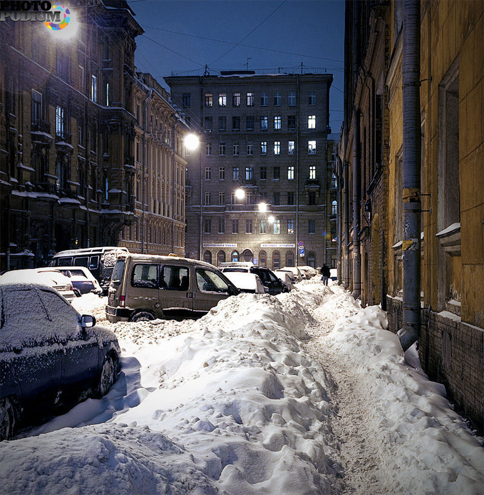
[[[110,324],[105,302],[73,305],[116,333],[121,375],[0,443],[2,493],[483,493],[483,439],[336,283],[196,321]]]

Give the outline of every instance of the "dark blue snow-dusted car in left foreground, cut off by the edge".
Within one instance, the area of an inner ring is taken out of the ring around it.
[[[0,283],[0,439],[19,424],[108,393],[120,369],[115,335],[52,288]]]

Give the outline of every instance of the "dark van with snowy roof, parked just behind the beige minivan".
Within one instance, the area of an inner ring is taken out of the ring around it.
[[[85,266],[99,282],[106,296],[114,263],[119,254],[128,252],[126,247],[116,246],[69,249],[54,254],[49,266]]]

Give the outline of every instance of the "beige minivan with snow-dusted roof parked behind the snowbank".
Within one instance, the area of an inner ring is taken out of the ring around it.
[[[117,321],[196,318],[239,294],[215,266],[176,256],[126,254],[112,270],[106,317]]]

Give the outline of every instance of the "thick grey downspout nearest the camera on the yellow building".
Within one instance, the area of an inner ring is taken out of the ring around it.
[[[421,121],[420,1],[403,2],[403,318],[397,335],[403,350],[420,337]]]

